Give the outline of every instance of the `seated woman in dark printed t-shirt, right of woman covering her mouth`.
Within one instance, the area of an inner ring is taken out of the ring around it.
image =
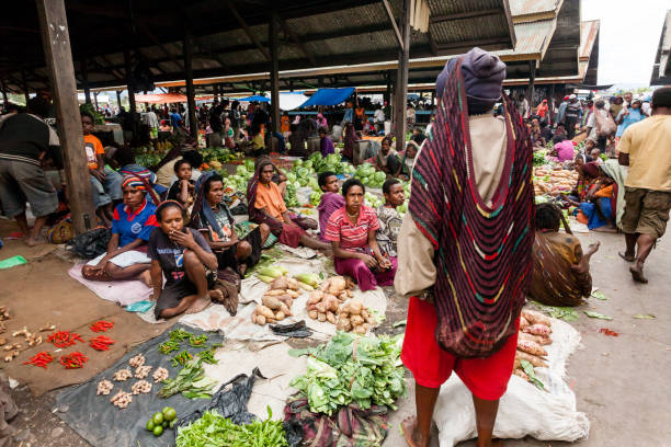
[[[190,226],[207,234],[207,243],[217,256],[218,270],[230,267],[241,276],[261,259],[270,228],[261,224],[244,239],[238,239],[236,221],[224,203],[224,179],[209,172],[201,179]]]

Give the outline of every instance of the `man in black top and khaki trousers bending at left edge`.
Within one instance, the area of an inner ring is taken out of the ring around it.
[[[50,152],[56,165],[62,167],[58,136],[44,122],[49,105],[45,98],[35,96],[27,103],[27,113],[12,114],[0,121],[0,202],[4,214],[16,219],[29,247],[41,243],[37,241],[39,231],[47,216],[58,208],[56,190],[41,164]],[[26,202],[36,217],[30,232]]]

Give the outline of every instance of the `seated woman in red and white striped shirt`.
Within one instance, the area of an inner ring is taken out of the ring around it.
[[[333,249],[336,272],[354,277],[363,291],[393,285],[397,267],[396,257],[385,256],[377,244],[379,222],[375,210],[364,205],[365,192],[357,179],[342,185],[345,206],[331,215],[326,233]]]

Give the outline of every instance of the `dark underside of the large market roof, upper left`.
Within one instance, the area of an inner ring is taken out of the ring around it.
[[[400,16],[401,2],[388,0],[395,19]],[[476,45],[489,50],[515,45],[508,0],[427,3],[429,28],[427,33],[412,32],[411,58],[465,53]],[[147,74],[155,83],[183,80],[185,33],[194,42],[194,78],[264,73],[271,61],[272,11],[280,18],[280,70],[398,59],[395,27],[379,0],[200,0],[168,8],[157,4],[149,0],[66,2],[78,88],[83,88],[86,66],[90,88],[125,89],[124,53],[129,54],[134,76]],[[104,38],[91,38],[91,30]],[[22,72],[31,91],[48,89],[35,2],[14,2],[11,14],[0,16],[0,78],[8,90],[24,90]],[[291,89],[284,81],[280,87]]]

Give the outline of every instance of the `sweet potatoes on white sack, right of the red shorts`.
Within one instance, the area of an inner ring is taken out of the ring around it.
[[[514,375],[531,381],[527,374],[522,369],[521,360],[527,360],[534,367],[547,367],[547,363],[545,363],[547,351],[543,346],[553,343],[551,333],[549,318],[534,310],[522,310]]]

